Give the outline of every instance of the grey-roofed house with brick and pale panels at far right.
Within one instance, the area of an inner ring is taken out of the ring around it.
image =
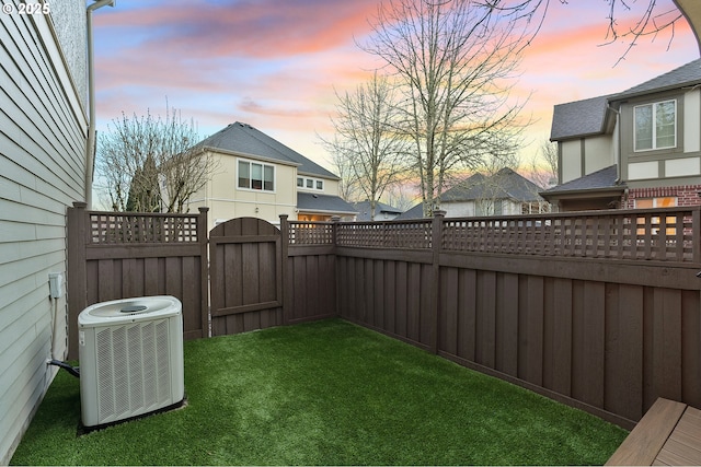
[[[554,107],[560,211],[701,205],[701,60]]]

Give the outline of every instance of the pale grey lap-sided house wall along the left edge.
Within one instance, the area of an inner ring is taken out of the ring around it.
[[[0,465],[8,465],[57,372],[46,361],[67,347],[66,294],[49,299],[49,275],[70,280],[66,208],[85,199],[88,83],[83,0],[50,2],[50,14],[3,4],[14,5],[0,15]]]

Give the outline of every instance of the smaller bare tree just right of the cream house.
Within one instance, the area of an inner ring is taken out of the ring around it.
[[[406,141],[398,135],[394,92],[377,71],[353,93],[338,95],[332,125],[335,138],[326,149],[347,161],[352,179],[370,203],[370,219],[386,189],[403,171]]]

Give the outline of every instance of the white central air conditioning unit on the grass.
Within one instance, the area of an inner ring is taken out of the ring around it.
[[[183,404],[182,307],[174,296],[145,296],[96,303],[78,315],[87,431]]]

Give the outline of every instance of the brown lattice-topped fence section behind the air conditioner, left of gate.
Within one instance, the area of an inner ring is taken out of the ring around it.
[[[68,209],[69,358],[78,358],[78,314],[142,295],[183,303],[185,339],[207,337],[207,209],[198,214]]]

